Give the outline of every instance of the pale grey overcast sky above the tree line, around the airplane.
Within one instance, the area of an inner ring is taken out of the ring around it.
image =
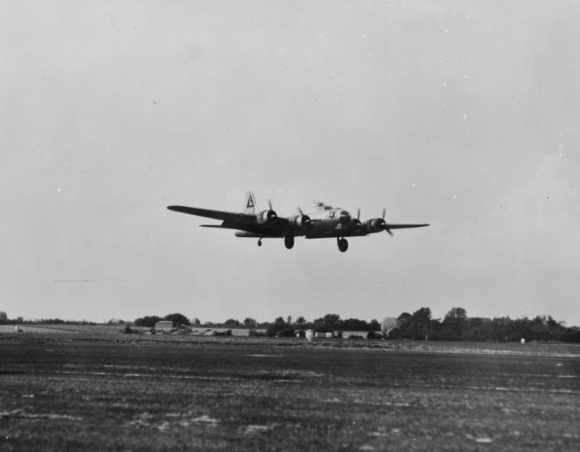
[[[0,310],[580,325],[580,3],[53,1],[0,16]],[[431,227],[241,239],[319,199]]]

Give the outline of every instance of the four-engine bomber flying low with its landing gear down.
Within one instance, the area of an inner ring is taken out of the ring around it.
[[[202,227],[218,227],[221,229],[236,229],[236,237],[252,237],[258,239],[261,246],[263,238],[284,238],[286,248],[294,247],[294,237],[304,236],[307,239],[336,238],[339,251],[348,250],[348,242],[344,237],[358,237],[409,227],[423,227],[428,224],[392,224],[385,221],[385,209],[382,218],[370,218],[360,221],[360,209],[357,217],[339,207],[332,207],[321,201],[314,201],[315,210],[305,214],[298,208],[298,213],[290,217],[278,217],[268,201],[268,210],[259,210],[252,192],[245,195],[244,211],[225,212],[221,210],[200,209],[197,207],[168,206],[169,210],[188,213],[198,217],[222,220],[220,225],[200,225]]]

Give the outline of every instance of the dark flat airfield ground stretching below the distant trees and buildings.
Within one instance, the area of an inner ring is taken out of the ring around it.
[[[577,450],[579,347],[430,347],[2,333],[0,449]]]

